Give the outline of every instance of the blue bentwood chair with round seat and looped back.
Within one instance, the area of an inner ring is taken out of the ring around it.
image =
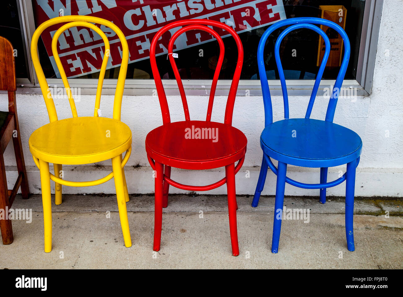
[[[287,27],[278,36],[274,46],[274,55],[280,76],[281,88],[283,91],[285,119],[273,123],[272,103],[264,65],[263,51],[266,40],[270,34],[274,32],[274,30],[287,25],[291,26]],[[329,38],[322,31],[322,29],[318,27],[318,25],[325,25],[336,30],[344,41],[343,61],[332,90],[332,96],[330,97],[328,103],[326,118],[324,121],[310,118],[319,83],[330,53]],[[325,42],[326,50],[322,63],[319,67],[305,118],[290,119],[287,86],[285,84],[283,67],[281,66],[279,48],[281,40],[283,40],[284,36],[286,36],[289,32],[300,28],[308,28],[320,34]],[[263,190],[264,182],[266,180],[267,168],[270,167],[274,174],[277,175],[272,253],[277,253],[278,251],[281,218],[283,217],[285,183],[289,183],[304,189],[320,189],[320,202],[325,203],[326,188],[339,185],[343,181],[346,181],[345,223],[347,248],[349,251],[354,251],[353,207],[355,169],[359,162],[362,141],[354,131],[333,123],[334,110],[339,97],[341,84],[346,73],[349,57],[350,42],[347,34],[339,25],[326,19],[319,19],[315,17],[298,17],[279,21],[271,25],[260,39],[258,46],[258,67],[264,101],[265,128],[260,136],[260,146],[263,150],[263,160],[252,206],[258,206],[260,193]],[[274,166],[270,158],[278,160],[277,168]],[[320,168],[320,183],[307,184],[290,179],[286,176],[287,164]],[[327,182],[328,167],[340,166],[342,164],[347,164],[347,172],[339,179]]]

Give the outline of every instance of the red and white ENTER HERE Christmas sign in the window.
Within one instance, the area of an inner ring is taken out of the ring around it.
[[[126,36],[129,63],[148,59],[152,38],[162,26],[172,21],[212,19],[226,23],[241,33],[286,18],[282,0],[34,0],[33,6],[36,25],[59,15],[91,15],[112,21]],[[122,61],[119,39],[108,27],[98,26],[110,41],[108,69],[118,67]],[[60,24],[54,25],[42,33],[57,77],[60,76],[51,44],[59,27]],[[221,37],[229,36],[222,29],[213,29]],[[170,34],[166,32],[162,36],[157,55],[167,53]],[[206,32],[188,31],[176,40],[174,50],[212,40],[214,38]],[[58,41],[58,53],[67,77],[99,72],[105,48],[98,34],[89,28],[73,27],[66,30]]]

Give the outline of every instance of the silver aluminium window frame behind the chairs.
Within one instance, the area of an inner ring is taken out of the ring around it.
[[[41,94],[37,76],[31,59],[31,36],[35,31],[33,8],[31,0],[17,0],[21,19],[21,31],[27,59],[27,73],[29,78],[17,79],[17,93]],[[358,53],[357,77],[355,80],[344,80],[343,88],[355,89],[357,96],[368,96],[372,92],[378,36],[382,15],[383,0],[366,0],[364,7],[363,24]],[[62,86],[61,78],[47,79],[50,86]],[[105,79],[102,89],[103,95],[113,95],[116,79]],[[176,80],[162,80],[166,95],[179,95]],[[205,86],[210,86],[212,80],[182,80],[187,95],[208,95]],[[231,80],[218,80],[216,96],[228,95]],[[272,96],[281,96],[280,80],[268,80]],[[289,96],[310,96],[315,80],[286,80]],[[98,79],[71,78],[71,87],[80,87],[82,95],[95,95]],[[334,80],[321,80],[318,94],[334,85]],[[153,79],[126,79],[124,95],[155,95]],[[240,80],[237,96],[262,96],[260,80]]]

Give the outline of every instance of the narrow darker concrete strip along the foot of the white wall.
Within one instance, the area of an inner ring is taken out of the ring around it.
[[[274,196],[261,196],[258,207],[252,207],[253,196],[237,196],[238,212],[274,212]],[[85,194],[62,196],[60,205],[54,204],[52,195],[52,212],[106,212],[118,211],[115,195]],[[168,207],[164,212],[199,212],[199,211],[228,211],[226,195],[181,195],[170,194]],[[286,196],[285,207],[291,209],[306,209],[310,213],[345,213],[344,197],[328,197],[325,204],[319,202],[319,197]],[[32,209],[42,212],[42,196],[31,195],[23,200],[20,195],[15,199],[13,208]],[[154,212],[154,195],[130,195],[127,202],[127,211]],[[403,216],[403,201],[388,198],[362,198],[357,197],[354,203],[354,213],[362,215]]]

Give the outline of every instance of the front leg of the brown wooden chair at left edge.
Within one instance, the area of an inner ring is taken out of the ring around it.
[[[0,154],[0,167],[0,210],[4,211],[5,216],[6,209],[10,207],[10,201],[8,200],[6,168],[4,166],[3,154]],[[0,218],[0,230],[3,238],[3,244],[11,244],[14,240],[14,237],[12,236],[11,220],[6,220],[5,217]]]

